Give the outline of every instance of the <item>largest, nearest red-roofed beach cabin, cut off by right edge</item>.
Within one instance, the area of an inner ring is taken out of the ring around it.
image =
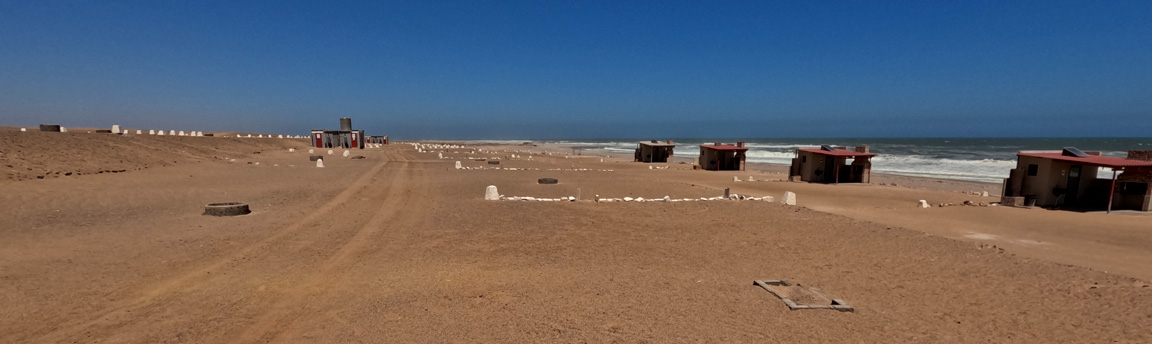
[[[1098,175],[1100,168],[1104,178]],[[1002,205],[1083,211],[1152,209],[1152,151],[1129,151],[1128,158],[1100,156],[1076,147],[1021,151],[1005,179]]]

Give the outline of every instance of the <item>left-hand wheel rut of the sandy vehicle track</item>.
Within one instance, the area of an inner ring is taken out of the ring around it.
[[[92,318],[61,324],[54,328],[52,331],[44,334],[43,336],[39,336],[38,338],[31,342],[55,343],[55,342],[68,341],[68,338],[76,338],[78,337],[77,334],[84,332],[88,329],[98,327],[100,324],[106,324],[108,322],[120,322],[114,319],[122,319],[126,315],[132,313],[134,311],[143,309],[151,305],[160,303],[166,297],[197,289],[204,284],[207,284],[209,282],[212,282],[214,278],[219,278],[220,274],[211,275],[207,273],[212,270],[227,269],[232,265],[244,261],[243,259],[244,257],[257,254],[257,252],[260,250],[266,250],[276,243],[288,240],[291,238],[293,235],[298,234],[302,229],[305,229],[306,224],[314,223],[321,220],[321,217],[328,215],[329,213],[338,211],[339,207],[347,204],[354,196],[363,192],[363,189],[365,186],[372,184],[373,178],[377,177],[380,170],[384,169],[384,167],[388,162],[389,161],[387,159],[382,159],[379,163],[373,166],[367,173],[357,178],[356,182],[351,183],[350,185],[348,185],[348,188],[346,188],[343,191],[336,194],[336,197],[334,197],[332,200],[328,200],[323,206],[309,213],[300,221],[285,227],[283,229],[276,231],[274,235],[268,236],[267,238],[257,242],[255,244],[244,246],[243,249],[240,249],[227,257],[219,258],[206,266],[189,270],[188,273],[159,282],[157,283],[157,285],[143,290],[139,297],[114,303],[113,305],[99,312],[93,312]]]

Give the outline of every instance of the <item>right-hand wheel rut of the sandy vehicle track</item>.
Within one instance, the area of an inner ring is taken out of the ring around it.
[[[329,257],[321,265],[320,269],[288,292],[278,303],[267,309],[266,313],[256,319],[256,323],[245,329],[236,342],[238,343],[270,343],[291,338],[295,335],[291,326],[302,315],[309,314],[312,303],[336,284],[342,276],[354,266],[356,257],[365,253],[365,246],[378,243],[376,237],[384,235],[387,229],[403,228],[420,219],[419,209],[423,204],[430,202],[426,197],[420,197],[426,183],[411,183],[412,169],[408,167],[406,158],[399,152],[388,152],[389,160],[400,165],[396,177],[388,182],[388,192],[385,201],[380,204],[372,217],[359,228],[356,234]]]

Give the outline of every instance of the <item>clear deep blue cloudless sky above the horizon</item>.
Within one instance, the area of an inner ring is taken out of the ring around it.
[[[1152,136],[1152,1],[0,0],[0,125]]]

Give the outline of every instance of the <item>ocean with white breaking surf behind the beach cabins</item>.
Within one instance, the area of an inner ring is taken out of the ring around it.
[[[658,138],[668,139],[668,138]],[[695,158],[698,145],[735,143],[738,139],[676,139],[675,155]],[[604,150],[631,154],[637,142],[646,139],[560,140],[581,150]],[[1078,147],[1100,151],[1107,156],[1126,156],[1128,151],[1152,150],[1152,138],[763,138],[744,139],[748,161],[768,165],[791,165],[796,147],[820,145],[870,146],[872,171],[946,179],[1000,183],[1016,167],[1020,151],[1060,151]],[[1101,176],[1112,175],[1104,170]]]

